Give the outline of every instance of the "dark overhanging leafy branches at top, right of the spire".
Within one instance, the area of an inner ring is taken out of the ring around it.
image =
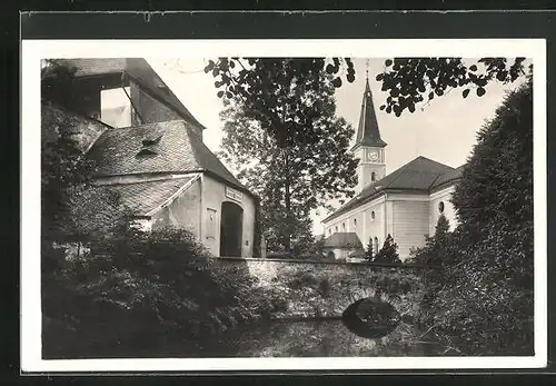
[[[506,58],[480,58],[467,66],[461,58],[395,58],[385,61],[385,71],[376,79],[383,82],[383,91],[389,91],[380,110],[397,117],[404,110],[414,112],[416,105],[431,101],[453,89],[464,88],[464,98],[475,90],[478,97],[486,93],[492,81],[514,82],[524,72],[525,58],[515,58],[512,65]]]

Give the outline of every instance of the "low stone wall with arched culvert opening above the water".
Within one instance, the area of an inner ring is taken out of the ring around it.
[[[286,260],[217,258],[217,264],[244,267],[259,279],[258,285],[277,291],[286,307],[276,319],[335,318],[354,301],[379,297],[411,319],[424,294],[419,271],[424,267]]]

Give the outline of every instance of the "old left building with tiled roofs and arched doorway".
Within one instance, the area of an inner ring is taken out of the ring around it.
[[[42,132],[76,128],[95,184],[118,191],[146,229],[193,232],[216,256],[254,256],[256,197],[205,146],[205,127],[143,59],[50,61]]]

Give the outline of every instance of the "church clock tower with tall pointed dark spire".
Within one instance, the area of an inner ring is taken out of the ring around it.
[[[385,176],[385,148],[386,142],[380,138],[380,131],[378,130],[367,69],[359,127],[357,128],[355,145],[351,148],[355,157],[359,159],[356,194],[359,194],[365,187]]]

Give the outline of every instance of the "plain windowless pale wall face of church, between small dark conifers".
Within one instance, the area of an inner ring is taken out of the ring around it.
[[[429,227],[429,201],[427,196],[390,196],[393,202],[394,241],[398,245],[401,260],[409,257],[411,247],[423,246]]]

